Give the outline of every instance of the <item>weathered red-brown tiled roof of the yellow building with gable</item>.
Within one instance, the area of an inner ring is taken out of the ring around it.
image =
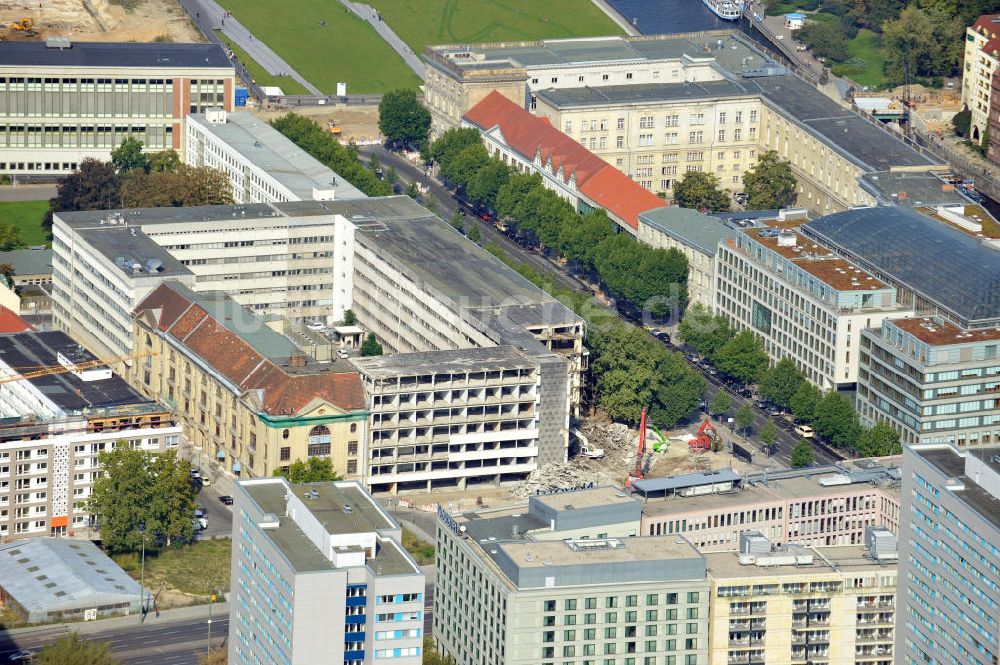
[[[182,303],[187,303],[183,309]],[[161,331],[241,391],[259,391],[266,413],[296,415],[317,398],[345,411],[365,407],[357,372],[331,371],[331,365],[324,364],[315,372],[309,372],[307,365],[304,370],[289,373],[170,284],[161,284],[150,293],[136,307],[136,312],[140,311],[153,314]]]

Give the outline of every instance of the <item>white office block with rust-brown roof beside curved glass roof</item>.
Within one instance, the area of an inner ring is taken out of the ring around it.
[[[715,259],[715,310],[823,390],[857,381],[862,330],[913,313],[895,288],[793,229],[740,229]]]

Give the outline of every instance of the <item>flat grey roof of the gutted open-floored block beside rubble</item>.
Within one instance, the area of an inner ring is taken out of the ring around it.
[[[352,358],[362,374],[391,378],[410,374],[447,374],[501,369],[533,369],[536,363],[512,346],[488,346],[447,351],[421,351]]]

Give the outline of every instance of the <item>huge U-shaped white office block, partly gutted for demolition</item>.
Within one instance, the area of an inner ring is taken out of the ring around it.
[[[409,197],[129,210],[110,221],[98,212],[59,213],[54,245],[57,324],[87,343],[108,340],[120,354],[145,343],[133,341],[128,312],[174,276],[198,294],[222,291],[265,315],[335,321],[352,309],[397,354],[357,365],[369,387],[357,408],[379,415],[366,428],[371,438],[358,447],[359,453],[379,449],[378,459],[359,456],[358,473],[377,468],[379,483],[365,476],[377,489],[431,489],[432,481],[454,485],[473,476],[494,482],[566,458],[569,418],[579,408],[587,369],[583,320]],[[88,275],[101,279],[82,278]],[[126,321],[119,321],[121,313]],[[428,352],[445,353],[425,358]],[[476,366],[486,357],[489,371]],[[464,397],[424,390],[434,382],[462,390],[439,377],[434,363],[468,373]],[[235,372],[229,380],[262,379]],[[505,392],[515,386],[516,397]],[[161,386],[158,394],[169,391]],[[510,403],[486,404],[495,394]],[[172,399],[181,397],[178,389]],[[295,402],[284,415],[305,406]],[[192,415],[207,430],[200,440],[217,440],[214,424]],[[237,439],[239,450],[246,441]],[[231,433],[218,440],[231,454]],[[498,452],[511,442],[516,455]],[[286,461],[275,454],[270,446],[264,457]],[[255,456],[254,474],[263,459]],[[249,458],[234,461],[243,468]],[[477,466],[489,468],[473,472]]]

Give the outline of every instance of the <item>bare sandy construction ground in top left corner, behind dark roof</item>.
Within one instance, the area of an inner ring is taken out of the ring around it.
[[[0,39],[76,42],[202,42],[176,0],[5,0]]]

